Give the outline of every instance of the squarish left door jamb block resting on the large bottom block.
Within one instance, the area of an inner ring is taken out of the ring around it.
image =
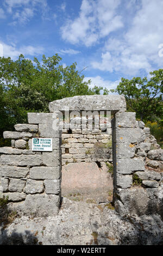
[[[59,180],[44,180],[46,194],[59,194],[61,191]]]

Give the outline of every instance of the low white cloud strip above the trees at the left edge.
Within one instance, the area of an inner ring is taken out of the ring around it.
[[[30,55],[30,56],[37,56],[43,53],[43,47],[33,47],[33,46],[22,46],[20,48],[16,48],[12,45],[4,44],[0,41],[3,46],[3,56],[4,57],[11,57],[11,59],[16,59],[20,54],[23,55]]]

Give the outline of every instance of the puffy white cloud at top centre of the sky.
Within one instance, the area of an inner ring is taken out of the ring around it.
[[[121,16],[116,14],[120,0],[83,0],[79,16],[67,20],[61,27],[64,40],[72,44],[81,42],[91,46],[123,26]]]

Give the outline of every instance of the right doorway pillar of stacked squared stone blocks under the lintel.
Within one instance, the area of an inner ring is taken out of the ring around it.
[[[114,163],[114,204],[121,204],[120,192],[133,184],[133,173],[145,169],[145,162],[135,158],[136,144],[145,140],[145,133],[137,128],[134,112],[117,112],[112,121]]]

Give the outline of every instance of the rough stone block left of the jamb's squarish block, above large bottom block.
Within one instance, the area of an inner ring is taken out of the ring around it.
[[[44,190],[44,188],[43,188],[42,180],[31,180],[31,179],[27,180],[26,188],[25,188],[25,192],[27,194],[42,193],[43,190]]]

